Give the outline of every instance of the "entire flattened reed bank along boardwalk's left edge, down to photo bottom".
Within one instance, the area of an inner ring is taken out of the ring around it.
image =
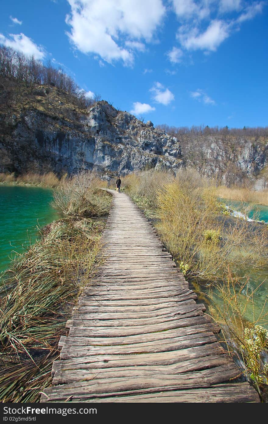
[[[97,253],[103,223],[65,219],[48,227],[47,235],[2,275],[2,354],[14,351],[22,361],[0,376],[4,402],[37,402],[40,390],[51,384],[59,335],[93,265],[102,261]]]

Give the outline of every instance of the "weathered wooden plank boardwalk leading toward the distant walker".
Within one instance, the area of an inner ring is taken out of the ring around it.
[[[41,402],[259,402],[230,381],[240,371],[152,224],[113,194],[105,264],[67,322]]]

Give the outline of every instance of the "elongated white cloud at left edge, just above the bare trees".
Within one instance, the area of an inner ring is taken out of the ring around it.
[[[6,47],[12,47],[14,50],[19,50],[26,55],[33,55],[36,59],[44,59],[45,52],[42,47],[37,46],[29,37],[20,34],[9,34],[10,38],[0,34],[0,43]]]

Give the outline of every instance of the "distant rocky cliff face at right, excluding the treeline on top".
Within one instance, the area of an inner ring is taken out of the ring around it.
[[[203,175],[228,186],[251,182],[257,188],[265,187],[268,137],[184,134],[178,139],[185,164]]]

